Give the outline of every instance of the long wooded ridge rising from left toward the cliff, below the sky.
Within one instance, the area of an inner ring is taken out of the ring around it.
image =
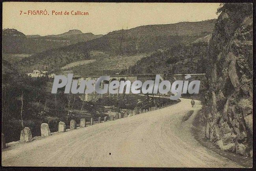
[[[59,70],[61,67],[76,61],[87,59],[103,60],[104,57],[102,56],[91,55],[91,51],[96,51],[98,54],[106,54],[104,56],[108,58],[111,66],[117,64],[115,61],[118,56],[121,59],[123,56],[131,57],[136,62],[145,54],[150,55],[150,53],[158,49],[164,50],[172,46],[183,46],[200,37],[211,34],[215,22],[216,20],[213,19],[201,22],[180,22],[176,24],[139,26],[128,30],[122,29],[110,32],[97,39],[89,40],[88,42],[80,42],[55,50],[37,53],[31,57],[22,59],[18,65],[22,67],[21,69],[23,71],[32,70],[33,68]],[[61,39],[61,37],[58,37],[58,39]],[[143,55],[141,56],[141,54]],[[136,56],[139,56],[137,60],[134,59]],[[111,60],[113,61],[111,62]],[[118,67],[116,70],[127,69],[127,67],[134,64],[134,61],[128,62],[128,66],[122,65],[122,67]],[[87,65],[85,64],[85,66]],[[79,65],[79,73],[82,72],[81,70],[83,70],[83,73],[96,73],[101,65],[99,63],[99,66],[92,67],[90,71],[85,66]],[[76,70],[75,66],[74,70]]]

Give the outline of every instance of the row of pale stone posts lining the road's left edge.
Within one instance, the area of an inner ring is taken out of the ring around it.
[[[139,110],[125,110],[124,112],[116,112],[114,115],[109,115],[109,120],[113,121],[114,119],[121,119],[121,118],[127,118],[130,116],[135,116],[137,114],[142,114],[142,113],[146,113],[146,112],[150,112],[150,111],[154,111],[160,108],[164,108],[171,105],[171,103],[162,105],[161,107],[150,107],[148,109],[142,109],[139,108]],[[104,122],[108,121],[107,120],[107,116],[104,117]],[[98,117],[98,121],[97,123],[101,123],[101,117]],[[93,118],[91,118],[90,120],[90,125],[93,125]],[[81,118],[80,119],[80,128],[84,128],[86,126],[86,120],[85,118]],[[58,124],[58,132],[66,132],[69,130],[74,130],[77,129],[77,124],[75,120],[71,120],[70,121],[70,129],[66,129],[66,124],[63,121],[60,121]],[[46,136],[50,136],[51,132],[49,129],[49,126],[47,123],[42,123],[41,124],[41,136],[42,137],[46,137]],[[20,142],[30,142],[32,141],[32,133],[30,131],[29,127],[25,127],[21,132],[20,132]],[[5,143],[5,138],[4,138],[4,134],[2,134],[2,149],[6,147],[6,143]]]

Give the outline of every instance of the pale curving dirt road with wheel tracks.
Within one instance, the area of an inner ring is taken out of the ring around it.
[[[242,167],[202,147],[191,134],[201,108],[189,99],[171,107],[108,121],[2,152],[3,166]],[[187,121],[182,117],[195,110]]]

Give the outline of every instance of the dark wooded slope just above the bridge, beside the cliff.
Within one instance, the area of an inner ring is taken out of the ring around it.
[[[166,50],[158,50],[137,61],[129,70],[133,74],[205,73],[207,66],[202,66],[202,63],[207,63],[209,37],[211,35],[198,38],[187,45],[176,45]]]

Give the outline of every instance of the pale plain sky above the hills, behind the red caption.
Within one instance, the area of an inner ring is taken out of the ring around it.
[[[218,7],[219,3],[3,2],[2,26],[25,35],[56,35],[71,29],[104,35],[149,24],[213,19],[218,17]],[[46,10],[47,15],[28,15],[28,10]],[[52,15],[52,11],[62,11],[62,15]],[[65,11],[89,15],[64,15]]]

